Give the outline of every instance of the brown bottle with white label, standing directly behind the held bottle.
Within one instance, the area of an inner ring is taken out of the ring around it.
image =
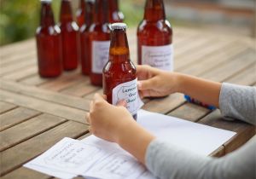
[[[102,69],[108,62],[110,30],[108,28],[108,0],[96,0],[94,23],[89,29],[90,83],[102,86]]]

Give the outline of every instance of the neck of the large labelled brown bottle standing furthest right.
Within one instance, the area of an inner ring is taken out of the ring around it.
[[[163,0],[147,0],[145,5],[144,20],[166,20]]]

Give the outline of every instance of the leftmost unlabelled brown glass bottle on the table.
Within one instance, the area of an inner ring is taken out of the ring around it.
[[[36,32],[38,72],[41,77],[57,77],[62,72],[61,30],[55,26],[50,0],[41,0],[41,20]]]

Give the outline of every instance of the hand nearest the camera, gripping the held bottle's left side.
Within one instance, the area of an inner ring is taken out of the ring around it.
[[[131,113],[125,108],[125,101],[120,101],[117,107],[106,101],[105,95],[94,95],[90,102],[90,113],[86,121],[90,124],[89,130],[95,136],[107,141],[118,142],[119,134],[137,123]]]

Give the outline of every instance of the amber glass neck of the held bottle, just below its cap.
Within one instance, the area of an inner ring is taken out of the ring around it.
[[[130,61],[130,50],[124,29],[117,29],[111,32],[109,61],[113,63]]]

